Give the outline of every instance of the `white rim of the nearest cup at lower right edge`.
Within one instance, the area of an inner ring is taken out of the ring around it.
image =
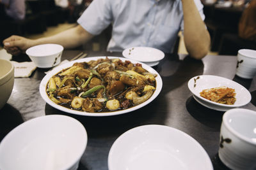
[[[223,124],[225,125],[225,127],[227,127],[228,131],[232,132],[232,134],[234,134],[237,138],[242,139],[246,143],[250,143],[253,146],[256,146],[256,142],[253,142],[252,140],[246,138],[246,136],[244,136],[243,134],[236,132],[232,127],[230,127],[230,124],[228,124],[228,117],[230,117],[230,115],[232,115],[234,112],[237,113],[237,111],[246,111],[247,112],[246,114],[255,115],[256,117],[256,111],[248,110],[244,108],[234,108],[224,113],[222,117]]]

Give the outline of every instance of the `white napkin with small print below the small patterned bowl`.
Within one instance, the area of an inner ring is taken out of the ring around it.
[[[33,71],[36,69],[36,66],[33,62],[16,62],[11,61],[14,66],[14,77],[29,77]]]

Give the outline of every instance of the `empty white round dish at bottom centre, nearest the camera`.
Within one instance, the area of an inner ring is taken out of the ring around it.
[[[111,146],[109,170],[212,170],[204,148],[188,134],[165,125],[142,125],[122,134]]]

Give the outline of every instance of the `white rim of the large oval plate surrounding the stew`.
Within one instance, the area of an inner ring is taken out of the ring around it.
[[[157,76],[156,76],[156,90],[155,90],[154,94],[147,101],[145,101],[144,103],[138,104],[137,106],[134,106],[132,108],[128,108],[126,110],[104,112],[104,113],[102,113],[102,112],[100,112],[100,113],[88,113],[86,111],[71,110],[71,109],[65,108],[64,106],[60,106],[60,105],[54,103],[53,101],[51,101],[51,99],[49,99],[49,96],[47,95],[46,89],[47,89],[47,83],[48,83],[48,81],[50,80],[50,78],[52,76],[59,73],[63,69],[67,69],[68,67],[71,67],[75,62],[89,62],[90,60],[106,59],[106,56],[101,56],[101,57],[87,57],[87,58],[84,58],[84,59],[73,60],[71,62],[67,62],[65,64],[62,64],[61,66],[58,66],[58,67],[52,69],[51,72],[47,73],[44,76],[43,80],[40,83],[39,89],[40,89],[40,94],[41,94],[42,98],[44,99],[44,101],[46,103],[48,103],[52,107],[54,107],[58,110],[61,110],[61,111],[65,111],[67,113],[72,113],[72,114],[75,114],[75,115],[90,116],[90,117],[105,117],[105,116],[120,115],[120,114],[128,113],[128,112],[131,112],[131,111],[134,111],[134,110],[138,110],[139,108],[142,108],[143,106],[146,106],[148,103],[152,102],[158,96],[158,94],[161,92],[161,89],[163,87],[163,81],[161,79],[161,76],[152,67],[148,66],[147,64],[143,64],[142,62],[138,62],[136,60],[131,60],[131,59],[125,59],[123,57],[108,57],[108,58],[109,59],[120,59],[122,61],[129,60],[134,64],[140,63],[141,66],[144,69],[146,69],[148,72],[153,73],[153,74],[157,74]]]

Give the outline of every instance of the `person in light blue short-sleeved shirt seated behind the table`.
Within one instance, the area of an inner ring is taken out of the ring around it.
[[[12,55],[43,43],[75,48],[112,24],[107,49],[110,52],[122,52],[131,46],[151,46],[172,53],[181,30],[189,55],[202,59],[211,41],[204,24],[203,7],[200,0],[94,0],[77,20],[79,25],[72,29],[39,39],[11,36],[3,44]]]

